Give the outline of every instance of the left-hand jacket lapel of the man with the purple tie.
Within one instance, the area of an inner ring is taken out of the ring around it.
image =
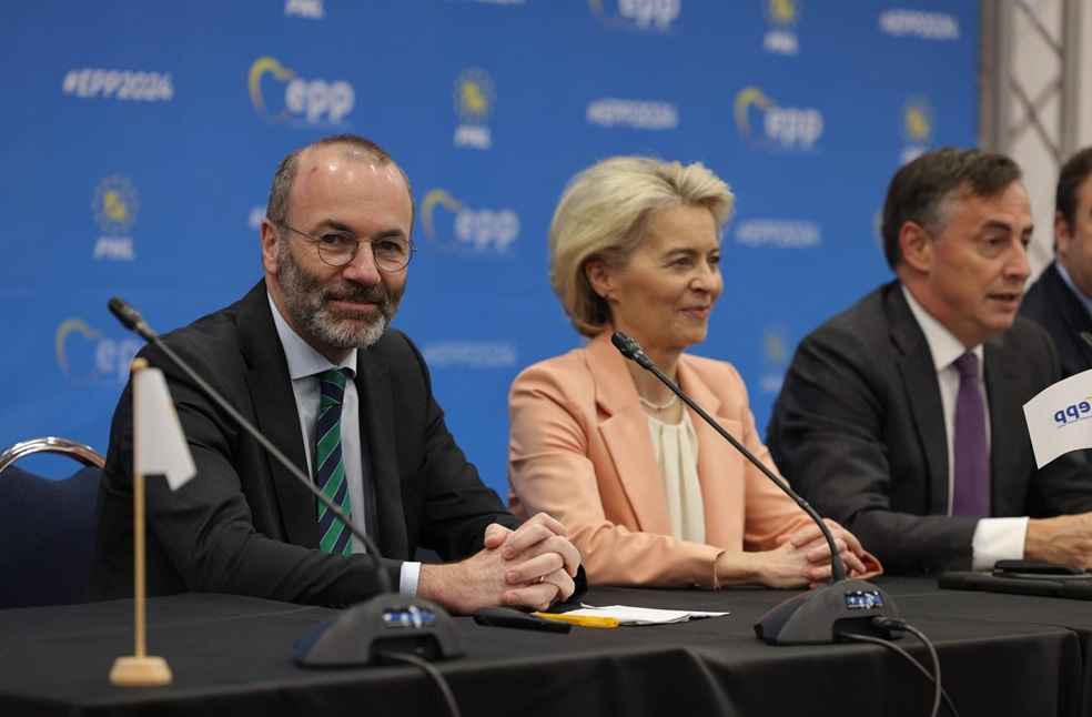
[[[884,306],[891,340],[901,353],[898,367],[907,403],[929,466],[928,512],[944,515],[948,513],[948,430],[932,352],[898,282],[888,284]]]

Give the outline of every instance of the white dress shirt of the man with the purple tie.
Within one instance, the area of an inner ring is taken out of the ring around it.
[[[959,371],[956,368],[956,360],[962,356],[967,349],[914,300],[906,286],[902,286],[902,294],[907,297],[910,312],[918,320],[918,325],[926,335],[929,352],[933,357],[933,367],[937,370],[937,382],[940,384],[940,402],[944,410],[944,430],[948,436],[948,515],[951,515],[954,493],[952,476],[956,468],[956,395],[959,393]],[[979,360],[979,390],[982,392],[982,407],[985,411],[985,445],[989,448],[990,400],[982,377],[985,366],[984,352],[981,344],[974,346],[971,352]],[[1027,517],[980,518],[971,542],[972,568],[988,570],[993,568],[993,564],[998,561],[1022,559],[1027,533]]]

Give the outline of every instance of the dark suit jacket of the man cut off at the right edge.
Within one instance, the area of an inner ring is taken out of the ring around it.
[[[1063,376],[1092,368],[1092,345],[1081,337],[1085,332],[1092,340],[1092,314],[1058,273],[1058,262],[1052,262],[1028,290],[1020,313],[1050,334]]]

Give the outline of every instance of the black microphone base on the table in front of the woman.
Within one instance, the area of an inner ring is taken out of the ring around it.
[[[767,645],[829,645],[842,632],[891,639],[894,635],[877,628],[872,618],[898,616],[887,593],[866,580],[847,579],[785,600],[755,624],[755,634]]]

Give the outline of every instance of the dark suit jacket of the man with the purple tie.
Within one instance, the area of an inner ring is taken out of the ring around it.
[[[1035,469],[1022,405],[1060,377],[1045,332],[1024,319],[984,345],[992,515],[1092,509],[1079,455]],[[822,514],[893,573],[969,569],[977,518],[944,515],[948,436],[932,354],[898,282],[801,342],[774,408],[774,460]]]

